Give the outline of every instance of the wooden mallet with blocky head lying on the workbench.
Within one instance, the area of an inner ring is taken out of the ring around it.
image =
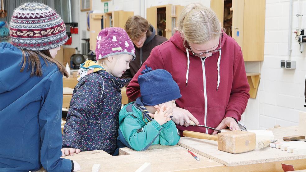
[[[242,153],[255,149],[255,133],[247,131],[229,131],[214,135],[204,134],[194,131],[183,131],[183,136],[215,140],[218,142],[218,150],[229,153]]]

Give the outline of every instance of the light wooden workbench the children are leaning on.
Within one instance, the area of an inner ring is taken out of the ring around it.
[[[281,140],[284,135],[293,135],[298,127],[273,128],[275,139]],[[99,153],[96,153],[99,152]],[[134,151],[121,148],[120,156],[110,156],[104,151],[88,151],[65,156],[76,160],[81,171],[91,171],[94,164],[100,164],[100,171],[135,171],[145,162],[151,163],[152,171],[283,171],[281,163],[291,164],[295,170],[306,169],[305,159],[277,161],[260,164],[225,166],[204,156],[196,154],[200,161],[195,160],[187,149],[176,146],[152,145],[145,151]]]

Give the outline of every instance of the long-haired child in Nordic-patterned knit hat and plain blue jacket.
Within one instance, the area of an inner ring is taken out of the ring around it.
[[[77,171],[61,158],[65,67],[54,59],[67,41],[62,18],[41,3],[17,7],[12,44],[0,43],[0,171]]]

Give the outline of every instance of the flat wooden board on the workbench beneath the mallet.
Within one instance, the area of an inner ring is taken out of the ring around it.
[[[299,134],[298,127],[279,127],[269,130],[273,131],[274,139],[276,140],[282,140],[284,136]],[[219,151],[216,141],[196,138],[181,138],[178,145],[227,166],[306,159],[306,154],[293,155],[292,153],[279,151],[272,147],[266,147],[264,149],[256,147],[254,151],[231,154]]]

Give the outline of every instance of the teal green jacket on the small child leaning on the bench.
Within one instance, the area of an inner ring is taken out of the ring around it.
[[[176,145],[180,135],[175,123],[170,120],[160,125],[140,106],[143,107],[143,104],[141,97],[138,97],[136,102],[123,106],[119,112],[118,147],[143,151],[152,144]]]

